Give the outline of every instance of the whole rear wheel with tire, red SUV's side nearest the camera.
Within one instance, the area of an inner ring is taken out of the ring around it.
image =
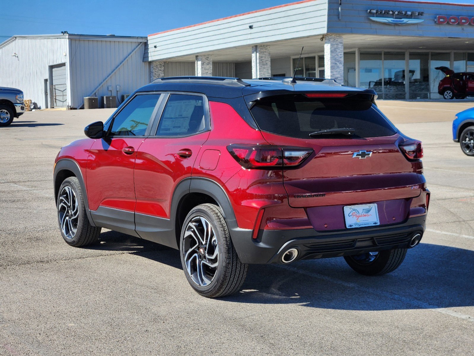
[[[240,262],[227,223],[214,204],[198,205],[184,219],[180,256],[186,279],[203,297],[225,297],[245,281],[248,265]]]

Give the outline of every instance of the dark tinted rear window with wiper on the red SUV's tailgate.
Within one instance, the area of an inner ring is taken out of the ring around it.
[[[260,130],[295,138],[310,138],[321,130],[352,128],[351,137],[392,136],[396,129],[368,100],[315,98],[303,94],[275,95],[258,100],[250,110]],[[341,138],[342,134],[311,138]]]

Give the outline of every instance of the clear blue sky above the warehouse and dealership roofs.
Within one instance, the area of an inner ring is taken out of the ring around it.
[[[435,1],[474,3],[474,0]],[[61,31],[94,35],[113,33],[123,36],[147,36],[167,29],[293,1],[1,0],[1,2],[0,43],[12,35],[56,34]]]

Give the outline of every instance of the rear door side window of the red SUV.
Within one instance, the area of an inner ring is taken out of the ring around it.
[[[156,136],[191,136],[205,131],[204,98],[201,95],[171,94],[161,115]]]

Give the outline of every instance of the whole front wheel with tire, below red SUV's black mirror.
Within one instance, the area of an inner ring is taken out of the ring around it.
[[[56,208],[59,230],[67,244],[82,247],[97,241],[101,228],[89,222],[81,185],[76,177],[64,179],[59,188]]]

